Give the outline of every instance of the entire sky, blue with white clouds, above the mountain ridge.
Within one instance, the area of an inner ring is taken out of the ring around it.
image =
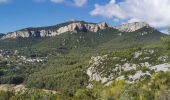
[[[0,0],[0,33],[70,19],[110,25],[146,22],[166,32],[170,0]]]

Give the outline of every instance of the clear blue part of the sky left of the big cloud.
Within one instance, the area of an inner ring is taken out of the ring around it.
[[[108,21],[101,16],[91,16],[94,4],[108,0],[89,0],[83,7],[50,1],[13,0],[0,4],[0,32],[15,31],[25,27],[55,25],[69,19],[90,22]]]

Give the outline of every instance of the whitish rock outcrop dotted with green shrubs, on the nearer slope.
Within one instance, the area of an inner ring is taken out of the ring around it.
[[[170,64],[167,63],[169,57],[159,54],[159,50],[136,50],[131,52],[130,59],[119,55],[91,57],[86,70],[89,76],[88,87],[93,86],[93,81],[101,82],[105,86],[113,80],[124,80],[133,84],[151,77],[153,72],[170,72]]]

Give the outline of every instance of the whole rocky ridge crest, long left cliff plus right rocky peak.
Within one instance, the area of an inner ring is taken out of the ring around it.
[[[15,39],[17,37],[51,37],[57,36],[66,32],[98,32],[106,28],[118,29],[121,32],[133,32],[143,27],[150,27],[144,22],[135,22],[123,24],[121,26],[111,27],[106,22],[102,23],[87,23],[84,21],[68,21],[66,23],[58,24],[55,26],[40,27],[40,28],[25,28],[15,32],[9,32],[1,39]]]

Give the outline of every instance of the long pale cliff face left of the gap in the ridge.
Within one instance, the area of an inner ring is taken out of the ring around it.
[[[7,33],[5,36],[2,37],[2,39],[8,39],[8,38],[17,38],[17,37],[50,37],[50,36],[56,36],[60,35],[65,32],[97,32],[100,29],[107,28],[108,25],[104,23],[99,24],[89,24],[89,23],[81,23],[81,22],[72,22],[68,25],[62,26],[62,27],[56,27],[55,29],[51,28],[40,28],[40,29],[23,29],[15,32]]]

